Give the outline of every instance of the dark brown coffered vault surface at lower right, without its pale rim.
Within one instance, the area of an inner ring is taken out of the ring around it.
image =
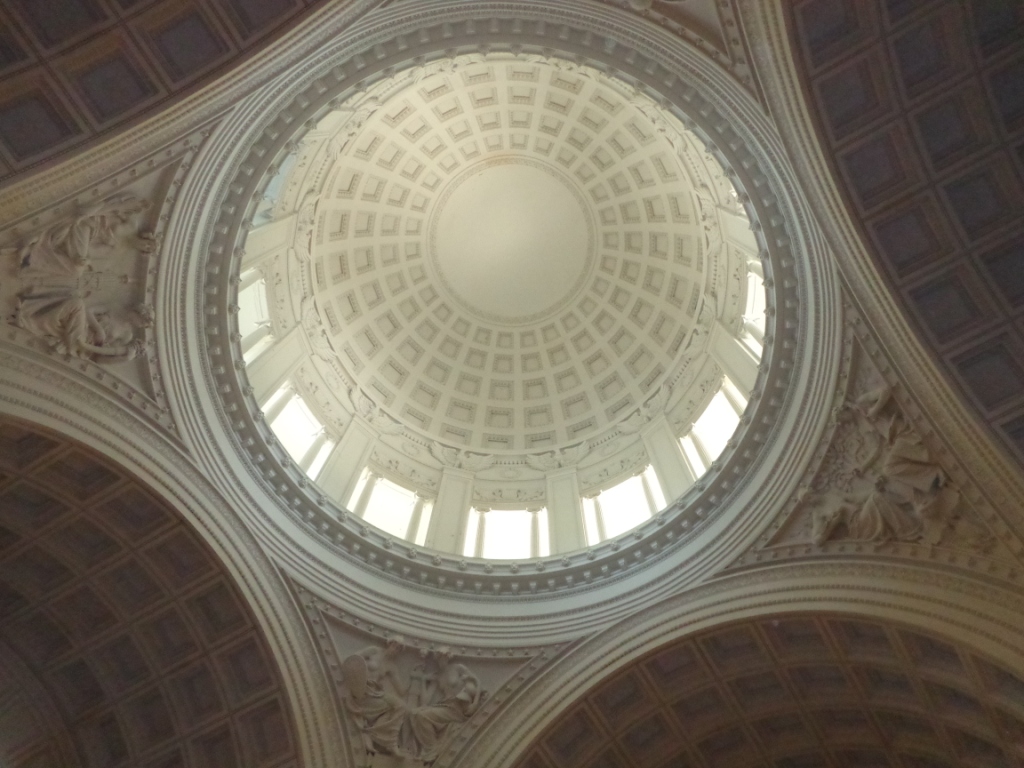
[[[1024,757],[1024,680],[944,639],[779,615],[598,684],[518,768],[958,768]]]

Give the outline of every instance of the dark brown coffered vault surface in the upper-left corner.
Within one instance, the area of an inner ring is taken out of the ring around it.
[[[0,182],[226,71],[322,0],[2,0]]]

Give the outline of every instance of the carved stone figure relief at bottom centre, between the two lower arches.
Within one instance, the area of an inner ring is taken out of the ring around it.
[[[395,657],[401,638],[371,646],[342,663],[346,706],[357,719],[370,755],[388,755],[406,765],[428,765],[455,730],[480,707],[480,681],[446,651],[421,652],[423,659],[403,679]]]

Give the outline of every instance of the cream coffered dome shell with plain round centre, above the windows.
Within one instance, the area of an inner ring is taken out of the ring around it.
[[[370,115],[317,206],[315,296],[346,371],[403,424],[560,446],[676,373],[702,179],[624,90],[566,61],[455,60],[351,104]]]

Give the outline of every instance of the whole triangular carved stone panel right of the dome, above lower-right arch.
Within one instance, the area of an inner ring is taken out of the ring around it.
[[[848,336],[839,404],[820,459],[790,511],[741,561],[757,560],[766,549],[778,556],[850,548],[911,557],[938,548],[950,552],[949,563],[969,566],[1012,559],[983,516],[983,498],[950,476],[955,468],[939,460],[910,403],[865,344]]]

